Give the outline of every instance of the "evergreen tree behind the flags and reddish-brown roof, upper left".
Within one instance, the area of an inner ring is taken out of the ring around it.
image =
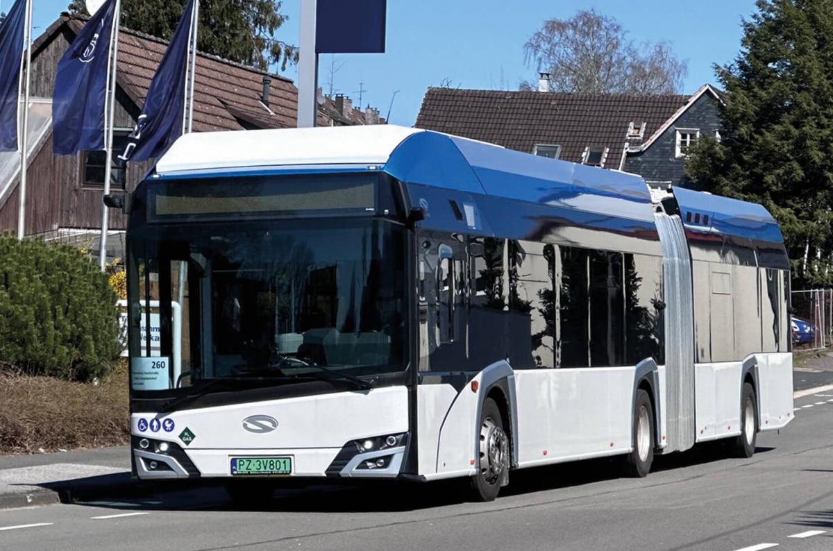
[[[169,40],[187,0],[123,0],[122,26]],[[202,0],[197,49],[233,62],[267,70],[297,62],[297,48],[275,38],[287,21],[277,0]],[[72,0],[69,11],[87,15],[84,0]]]

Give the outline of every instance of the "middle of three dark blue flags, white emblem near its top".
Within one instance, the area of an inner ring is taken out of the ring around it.
[[[115,12],[116,0],[104,2],[57,63],[52,93],[55,155],[104,149],[107,58]]]

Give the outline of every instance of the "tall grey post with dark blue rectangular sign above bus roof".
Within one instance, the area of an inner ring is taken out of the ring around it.
[[[299,128],[315,126],[318,54],[383,53],[386,21],[387,0],[301,0]]]

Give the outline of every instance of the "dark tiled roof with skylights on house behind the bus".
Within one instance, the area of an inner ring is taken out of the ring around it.
[[[588,146],[609,147],[606,168],[619,168],[631,122],[646,129],[640,146],[686,105],[690,96],[567,94],[428,88],[416,127],[531,152],[561,146],[561,159],[581,162]]]

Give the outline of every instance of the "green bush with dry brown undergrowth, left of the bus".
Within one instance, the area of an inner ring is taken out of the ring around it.
[[[113,276],[76,247],[0,235],[0,453],[127,442]]]

